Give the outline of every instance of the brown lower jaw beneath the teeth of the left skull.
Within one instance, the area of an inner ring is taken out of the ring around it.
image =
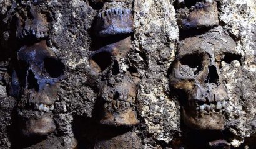
[[[54,132],[55,129],[54,120],[49,115],[41,117],[40,119],[31,117],[29,120],[24,122],[22,134],[26,137],[42,137]]]

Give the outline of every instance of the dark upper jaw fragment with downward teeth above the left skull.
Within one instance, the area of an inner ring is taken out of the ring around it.
[[[32,18],[22,19],[19,14],[17,16],[17,31],[18,38],[25,38],[32,36],[35,38],[44,38],[48,36],[49,23],[47,22],[46,15],[41,14],[36,6],[30,5],[30,13]]]

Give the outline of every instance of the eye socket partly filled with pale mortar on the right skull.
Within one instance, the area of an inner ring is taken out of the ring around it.
[[[180,58],[180,64],[182,65],[180,68],[180,73],[197,75],[200,71],[202,71],[203,56],[204,55],[202,54],[190,54]]]

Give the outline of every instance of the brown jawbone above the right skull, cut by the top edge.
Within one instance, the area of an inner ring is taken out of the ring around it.
[[[177,7],[180,29],[212,27],[219,24],[217,2],[214,0],[177,0]]]

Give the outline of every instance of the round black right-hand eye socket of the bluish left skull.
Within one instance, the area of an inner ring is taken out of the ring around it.
[[[44,68],[46,69],[46,73],[48,73],[52,78],[58,78],[64,73],[63,63],[54,58],[45,58]]]

